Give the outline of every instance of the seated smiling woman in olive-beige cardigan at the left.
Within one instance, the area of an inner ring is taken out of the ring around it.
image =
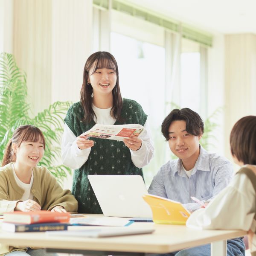
[[[37,166],[44,155],[44,135],[33,125],[18,127],[9,141],[0,169],[0,214],[13,211],[76,212],[77,201],[55,177]],[[3,247],[0,255],[44,255],[44,250]],[[47,254],[48,255],[48,254]]]

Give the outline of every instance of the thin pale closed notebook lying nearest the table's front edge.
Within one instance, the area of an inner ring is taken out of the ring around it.
[[[152,232],[154,232],[153,228],[108,227],[90,230],[47,231],[46,234],[47,236],[108,237],[147,234]]]

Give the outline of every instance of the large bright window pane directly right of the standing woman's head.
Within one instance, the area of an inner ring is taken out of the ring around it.
[[[164,48],[112,32],[111,53],[119,66],[122,96],[143,106],[152,128],[159,126],[164,118]]]

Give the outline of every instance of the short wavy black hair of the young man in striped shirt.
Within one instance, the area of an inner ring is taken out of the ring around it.
[[[184,120],[186,122],[186,131],[194,136],[204,134],[204,122],[195,111],[190,108],[182,108],[174,110],[162,122],[162,134],[169,140],[169,127],[173,121]]]

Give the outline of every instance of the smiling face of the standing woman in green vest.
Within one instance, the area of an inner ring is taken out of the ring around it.
[[[93,72],[94,71],[94,72]],[[111,94],[116,86],[116,72],[109,68],[98,68],[89,70],[88,82],[93,87],[93,94]]]

